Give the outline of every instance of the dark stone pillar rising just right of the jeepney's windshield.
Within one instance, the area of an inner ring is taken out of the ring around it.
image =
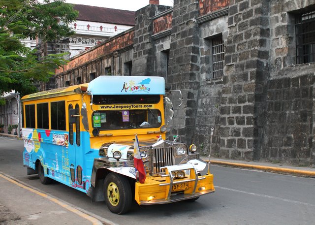
[[[200,81],[200,47],[198,1],[175,0],[172,15],[171,44],[169,54],[168,84],[171,90],[181,90],[183,103],[178,106],[179,95],[174,94],[175,117],[171,134],[179,134],[180,141],[191,143],[197,110],[197,98]]]

